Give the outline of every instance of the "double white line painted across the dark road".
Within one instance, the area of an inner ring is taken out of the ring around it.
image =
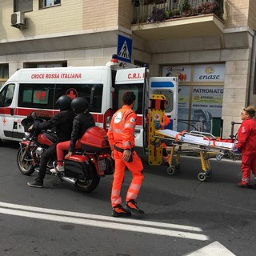
[[[127,218],[113,218],[102,215],[82,214],[71,211],[46,209],[34,206],[22,206],[6,202],[0,202],[0,213],[22,216],[26,218],[39,218],[54,222],[66,222],[85,226],[98,226],[114,230],[128,230],[132,232],[158,234],[201,241],[209,240],[209,238],[204,234],[192,233],[191,231],[202,232],[200,228],[195,226],[184,226],[163,222],[148,222]]]

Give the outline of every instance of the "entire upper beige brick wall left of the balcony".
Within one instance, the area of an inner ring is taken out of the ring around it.
[[[13,1],[10,4],[10,0],[4,0],[0,2],[0,40],[52,37],[57,34],[81,33],[82,30],[97,32],[118,26],[118,22],[129,29],[131,6],[127,0],[62,0],[61,6],[38,10],[38,0],[34,0],[33,11],[25,13],[27,29],[18,30],[10,26],[10,16],[14,12]],[[121,14],[119,21],[118,12]]]

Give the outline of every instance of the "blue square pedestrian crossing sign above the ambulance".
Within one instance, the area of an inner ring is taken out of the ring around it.
[[[131,62],[132,39],[118,34],[118,60]]]

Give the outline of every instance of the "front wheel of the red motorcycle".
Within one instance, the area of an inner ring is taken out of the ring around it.
[[[18,169],[21,171],[24,175],[30,175],[34,173],[34,166],[33,166],[33,159],[31,159],[30,152],[26,153],[23,160],[22,155],[26,151],[26,146],[22,146],[18,150],[17,154],[17,163],[18,163]]]

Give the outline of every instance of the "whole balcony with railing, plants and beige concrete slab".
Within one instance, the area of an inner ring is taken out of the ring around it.
[[[146,40],[222,34],[224,0],[132,0],[131,30]]]

